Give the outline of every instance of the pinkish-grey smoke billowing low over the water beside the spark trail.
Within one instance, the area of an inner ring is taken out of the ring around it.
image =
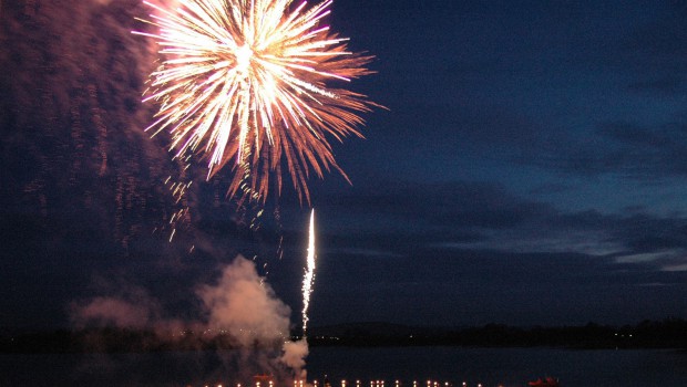
[[[164,318],[160,302],[144,290],[134,286],[126,292],[72,303],[72,321],[78,326],[153,328],[161,336],[183,330],[202,332],[206,339],[228,335],[238,353],[224,359],[227,367],[269,373],[276,380],[306,377],[308,344],[305,338],[288,341],[291,310],[257,273],[253,261],[239,255],[222,268],[214,283],[196,286],[202,306],[196,321]]]

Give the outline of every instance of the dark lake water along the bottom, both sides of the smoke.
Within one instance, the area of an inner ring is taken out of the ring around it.
[[[237,353],[161,353],[119,355],[0,355],[0,386],[235,386],[230,369],[245,364]],[[259,360],[248,362],[258,368]],[[677,351],[568,351],[551,348],[311,348],[309,379],[328,375],[332,387],[341,379],[368,387],[413,380],[461,386],[526,386],[541,376],[555,376],[564,387],[687,386],[687,353]],[[254,370],[249,370],[254,373]],[[250,374],[249,374],[250,375]],[[249,380],[248,380],[249,381]],[[321,381],[320,381],[321,383]]]

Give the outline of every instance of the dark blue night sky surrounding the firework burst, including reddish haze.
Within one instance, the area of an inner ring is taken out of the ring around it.
[[[101,296],[193,321],[237,254],[299,322],[310,206],[287,186],[237,209],[229,170],[183,172],[143,133],[146,13],[0,1],[0,327],[72,326]],[[310,326],[687,317],[687,6],[337,0],[329,22],[388,109],[335,142],[352,185],[310,180]]]

